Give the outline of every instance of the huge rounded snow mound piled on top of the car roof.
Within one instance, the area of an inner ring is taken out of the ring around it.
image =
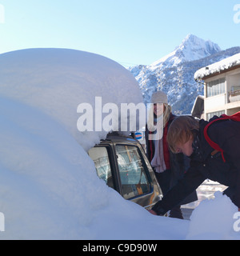
[[[107,132],[102,129],[80,133],[79,104],[89,103],[94,110],[95,97],[102,98],[102,106],[114,102],[119,109],[120,103],[142,102],[138,82],[117,62],[67,49],[27,49],[1,54],[0,94],[50,115],[85,150],[105,138]]]

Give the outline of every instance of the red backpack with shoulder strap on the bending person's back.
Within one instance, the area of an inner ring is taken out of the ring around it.
[[[215,154],[216,152],[221,152],[222,153],[223,162],[226,162],[226,160],[224,158],[224,155],[223,155],[223,150],[222,150],[222,148],[220,146],[218,146],[217,143],[213,142],[210,139],[210,137],[207,134],[207,129],[214,122],[218,122],[218,121],[222,121],[222,120],[227,120],[227,119],[240,122],[240,111],[237,112],[236,114],[233,114],[233,115],[222,114],[219,118],[217,118],[217,119],[213,120],[212,122],[208,123],[206,125],[206,127],[204,128],[204,137],[206,138],[206,141],[210,144],[210,146],[212,148],[214,148],[214,152],[212,154]]]

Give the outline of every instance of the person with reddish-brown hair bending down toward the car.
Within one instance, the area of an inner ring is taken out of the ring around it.
[[[213,121],[218,117],[210,120]],[[163,215],[174,208],[198,186],[210,178],[228,189],[224,191],[240,210],[240,122],[232,120],[211,124],[208,135],[212,141],[221,146],[214,150],[204,136],[204,129],[209,124],[204,120],[198,122],[193,117],[182,116],[172,122],[167,141],[174,153],[183,153],[190,157],[190,170],[176,186],[150,210],[152,214]]]

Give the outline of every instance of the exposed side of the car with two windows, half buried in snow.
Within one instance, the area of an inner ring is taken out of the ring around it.
[[[99,178],[123,198],[149,209],[162,198],[142,145],[134,138],[110,135],[88,152]]]

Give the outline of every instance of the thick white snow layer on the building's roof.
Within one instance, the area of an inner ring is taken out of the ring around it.
[[[222,71],[229,70],[234,66],[240,66],[240,54],[235,54],[230,58],[225,58],[220,62],[216,62],[210,66],[203,67],[194,74],[194,79],[199,80],[206,78],[211,74],[221,73]]]

